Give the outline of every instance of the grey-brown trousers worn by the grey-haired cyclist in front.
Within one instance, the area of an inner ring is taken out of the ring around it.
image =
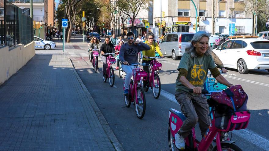
[[[180,135],[183,138],[186,138],[189,135],[191,128],[198,122],[201,135],[204,136],[211,123],[211,119],[208,116],[209,109],[206,99],[202,98],[201,95],[193,96],[183,91],[176,92],[175,98],[180,104],[182,113],[186,117],[186,120],[184,120],[179,130]]]

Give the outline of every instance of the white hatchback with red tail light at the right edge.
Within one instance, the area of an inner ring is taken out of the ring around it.
[[[213,52],[223,62],[224,67],[237,69],[247,74],[251,69],[269,71],[269,40],[238,38],[225,41]]]

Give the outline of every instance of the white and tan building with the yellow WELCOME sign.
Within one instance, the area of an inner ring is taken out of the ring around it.
[[[198,31],[212,32],[212,2],[213,0],[194,1],[197,7],[197,16],[200,16]],[[245,14],[244,11],[241,11],[243,3],[244,0],[215,1],[216,33],[252,33],[252,14]],[[230,8],[234,8],[234,11],[232,12]],[[161,9],[164,11],[163,31],[168,33],[195,32],[193,24],[196,23],[196,11],[190,0],[163,0]],[[160,0],[154,0],[153,25],[160,25],[160,14]],[[233,25],[232,29],[231,24]]]

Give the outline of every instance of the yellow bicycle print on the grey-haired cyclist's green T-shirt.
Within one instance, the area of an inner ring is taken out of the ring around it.
[[[204,69],[202,69],[203,65],[193,65],[193,69],[191,70],[191,77],[193,78],[193,81],[190,81],[191,84],[193,85],[203,85],[203,80],[206,77],[206,72]],[[198,78],[197,80],[194,80]]]

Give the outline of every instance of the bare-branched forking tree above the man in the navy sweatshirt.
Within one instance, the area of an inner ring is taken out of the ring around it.
[[[150,0],[118,0],[118,2],[116,3],[122,13],[124,13],[131,19],[132,31],[134,31],[135,17],[138,15],[141,7],[146,9],[146,4],[148,4],[149,1]]]

